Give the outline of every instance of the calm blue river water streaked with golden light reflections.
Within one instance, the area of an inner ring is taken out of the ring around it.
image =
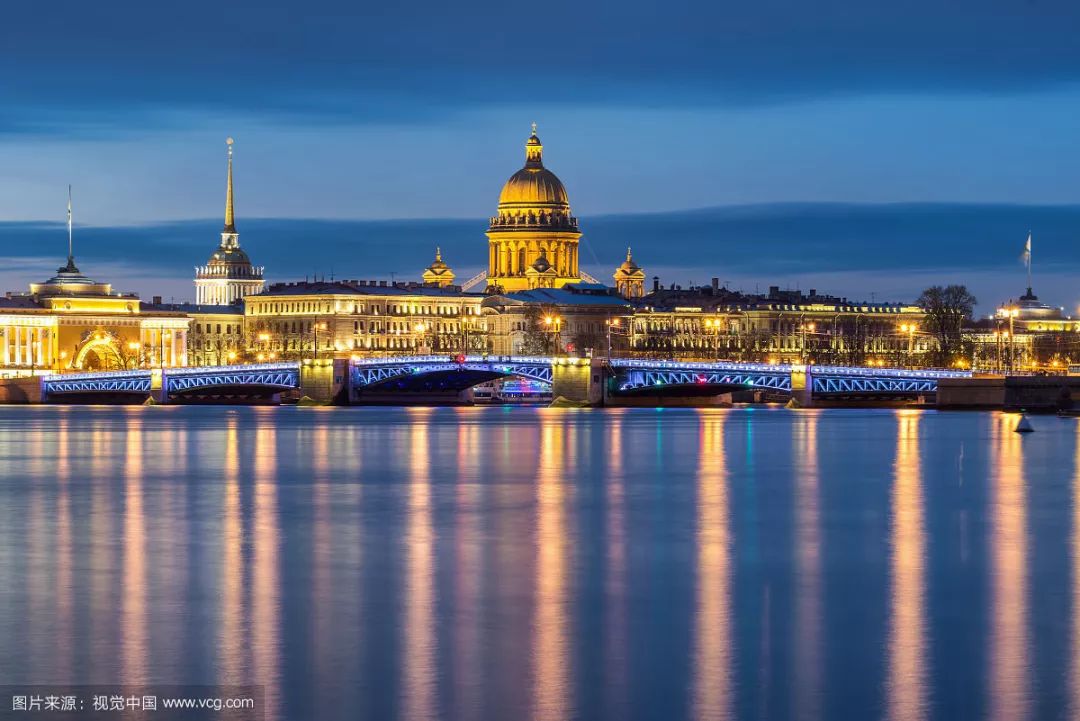
[[[1080,716],[1080,424],[0,409],[0,680],[268,719]]]

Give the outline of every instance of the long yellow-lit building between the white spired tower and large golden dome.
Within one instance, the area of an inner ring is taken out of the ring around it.
[[[246,357],[483,352],[483,300],[417,283],[276,283],[244,298]]]

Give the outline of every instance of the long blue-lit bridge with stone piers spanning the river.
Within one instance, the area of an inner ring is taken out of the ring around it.
[[[310,391],[311,395],[350,404],[409,403],[456,399],[477,383],[511,376],[550,383],[555,395],[593,405],[733,391],[791,394],[809,405],[814,398],[927,397],[936,393],[940,379],[970,378],[971,372],[644,358],[419,355],[60,373],[42,377],[41,399],[131,402],[146,399],[157,391],[162,403],[248,403]]]

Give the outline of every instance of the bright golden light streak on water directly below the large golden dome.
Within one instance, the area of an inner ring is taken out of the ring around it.
[[[536,615],[532,623],[532,718],[563,721],[570,717],[569,624],[566,599],[566,439],[550,416],[540,426],[537,476]]]

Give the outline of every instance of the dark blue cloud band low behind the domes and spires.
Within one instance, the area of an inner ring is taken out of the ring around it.
[[[1020,261],[1035,234],[1035,286],[1072,309],[1080,298],[1072,248],[1080,206],[804,203],[582,218],[582,268],[606,281],[627,245],[665,285],[715,276],[747,291],[770,285],[858,299],[909,301],[935,283],[966,283],[988,310],[1024,290]],[[487,240],[475,220],[249,219],[241,244],[272,281],[418,280],[436,245],[459,278],[484,269]],[[190,297],[193,268],[217,245],[220,221],[79,228],[76,255],[93,277],[144,297]],[[48,277],[66,253],[59,223],[0,223],[10,257],[0,281],[22,289]],[[42,250],[54,247],[54,257]],[[22,253],[19,253],[22,250]]]

